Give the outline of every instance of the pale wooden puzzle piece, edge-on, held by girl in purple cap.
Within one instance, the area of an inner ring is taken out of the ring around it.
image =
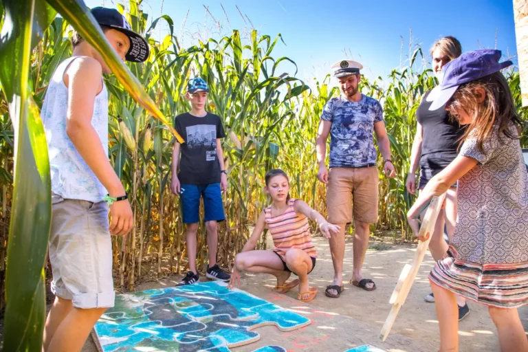
[[[445,193],[439,197],[432,197],[431,203],[429,204],[426,212],[426,216],[423,217],[423,221],[420,226],[420,236],[426,236],[427,234],[432,234],[434,231],[434,224],[437,222],[438,214],[441,211],[443,200],[445,199]],[[399,309],[404,305],[405,300],[410,292],[410,287],[415,281],[415,277],[418,274],[421,262],[423,261],[423,256],[426,255],[427,249],[429,247],[429,242],[431,241],[431,236],[426,241],[420,241],[418,248],[416,249],[415,256],[412,259],[410,265],[406,264],[404,270],[401,271],[399,275],[398,283],[394,289],[393,295],[389,303],[393,305],[391,312],[388,314],[385,324],[382,327],[380,333],[380,339],[385,341],[388,333],[391,331],[396,317],[398,315]]]

